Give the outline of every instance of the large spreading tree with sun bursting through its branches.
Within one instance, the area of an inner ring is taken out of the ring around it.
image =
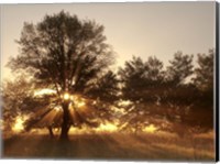
[[[95,21],[79,20],[64,11],[45,15],[36,24],[24,23],[18,41],[20,54],[9,66],[13,70],[25,69],[36,84],[56,90],[63,109],[61,139],[68,139],[69,95],[89,96],[101,73],[112,63],[103,29]]]

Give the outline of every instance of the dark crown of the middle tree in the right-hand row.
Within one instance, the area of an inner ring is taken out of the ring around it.
[[[193,55],[184,55],[182,52],[174,54],[169,66],[165,72],[164,101],[172,103],[185,103],[191,101],[195,87],[190,84],[193,76]]]

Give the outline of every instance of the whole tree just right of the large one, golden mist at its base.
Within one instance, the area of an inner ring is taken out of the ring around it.
[[[119,106],[125,110],[121,121],[121,130],[139,132],[153,121],[151,117],[158,113],[158,99],[163,92],[164,70],[163,63],[150,56],[146,62],[133,56],[119,70],[122,80],[122,98],[130,100],[128,106]],[[148,102],[148,103],[146,103]],[[153,108],[152,108],[153,107]]]

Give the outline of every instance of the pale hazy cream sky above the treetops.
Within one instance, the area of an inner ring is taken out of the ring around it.
[[[215,47],[215,2],[4,4],[1,76],[10,77],[4,65],[10,56],[18,55],[14,40],[19,40],[23,22],[40,22],[46,13],[64,10],[105,25],[107,43],[117,52],[117,66],[132,55],[144,61],[155,55],[167,65],[177,51],[197,54]]]

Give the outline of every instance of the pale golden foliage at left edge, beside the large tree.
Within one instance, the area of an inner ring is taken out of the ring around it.
[[[28,114],[34,108],[33,88],[32,83],[22,76],[4,81],[1,91],[4,130],[11,130],[18,116]]]

